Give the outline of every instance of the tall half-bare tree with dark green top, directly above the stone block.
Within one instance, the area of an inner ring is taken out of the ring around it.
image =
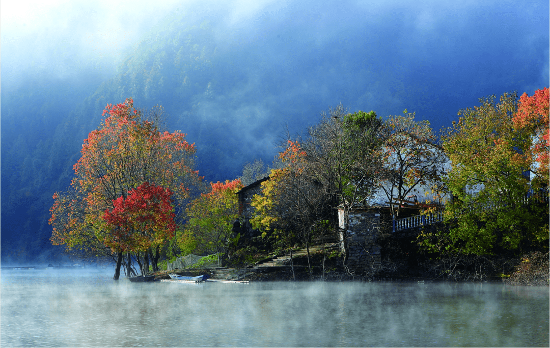
[[[321,122],[309,128],[303,145],[310,163],[307,171],[331,197],[332,209],[348,216],[372,203],[383,175],[381,129],[382,119],[375,112],[346,113],[342,105],[322,113]],[[347,229],[339,233],[342,249]]]

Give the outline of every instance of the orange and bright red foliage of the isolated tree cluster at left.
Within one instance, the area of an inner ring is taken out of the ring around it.
[[[150,116],[161,113],[153,109]],[[173,200],[183,203],[200,182],[195,146],[178,131],[162,132],[133,100],[108,104],[84,139],[70,193],[56,193],[53,244],[138,252],[174,233]],[[119,260],[120,261],[120,260]]]

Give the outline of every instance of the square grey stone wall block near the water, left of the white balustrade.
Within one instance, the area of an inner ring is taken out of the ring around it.
[[[376,241],[381,228],[380,213],[376,210],[356,210],[349,214],[348,221],[345,233],[347,267],[355,274],[379,268],[381,247]]]

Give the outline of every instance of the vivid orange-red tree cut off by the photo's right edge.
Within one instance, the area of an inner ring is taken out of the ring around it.
[[[548,88],[537,89],[533,96],[521,95],[518,112],[513,117],[515,129],[530,134],[529,148],[526,154],[530,161],[530,170],[535,174],[535,187],[548,187],[549,169],[548,153],[550,148],[549,99]]]

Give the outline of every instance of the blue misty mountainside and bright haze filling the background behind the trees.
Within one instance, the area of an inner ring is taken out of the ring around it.
[[[549,85],[547,1],[0,4],[2,261],[52,251],[52,195],[107,103],[163,105],[207,181],[270,164],[342,103],[437,132],[480,97]]]

